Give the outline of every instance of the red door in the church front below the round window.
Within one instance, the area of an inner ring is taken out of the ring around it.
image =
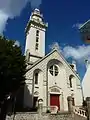
[[[51,94],[50,95],[50,106],[57,106],[60,110],[60,101],[59,95]]]

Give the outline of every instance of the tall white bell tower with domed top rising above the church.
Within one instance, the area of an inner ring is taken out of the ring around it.
[[[26,32],[25,55],[29,63],[34,63],[45,56],[45,31],[48,24],[44,22],[39,9],[35,9],[30,16]]]

